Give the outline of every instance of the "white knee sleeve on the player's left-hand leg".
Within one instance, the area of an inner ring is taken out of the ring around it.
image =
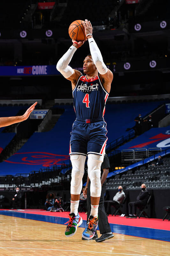
[[[71,188],[70,192],[73,195],[79,195],[82,190],[82,178],[85,168],[86,156],[83,155],[71,155],[70,160],[72,164],[71,172]]]

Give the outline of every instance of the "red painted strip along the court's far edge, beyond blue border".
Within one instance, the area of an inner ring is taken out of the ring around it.
[[[7,210],[7,209],[1,209]],[[70,212],[47,212],[45,210],[37,210],[37,209],[26,209],[26,210],[8,210],[14,212],[23,212],[23,213],[30,213],[30,214],[40,214],[46,216],[54,216],[54,217],[61,217],[61,218],[68,218],[68,214]],[[87,219],[87,215],[85,212],[79,213],[83,220]],[[162,220],[162,219],[147,219],[147,218],[137,218],[137,219],[129,219],[126,217],[120,216],[108,216],[108,222],[112,224],[118,225],[125,225],[125,226],[133,226],[133,227],[142,227],[142,228],[155,228],[155,229],[162,229],[162,230],[169,230],[170,231],[170,221]]]

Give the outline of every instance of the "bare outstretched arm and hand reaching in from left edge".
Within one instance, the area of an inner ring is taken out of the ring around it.
[[[35,102],[31,107],[29,107],[23,116],[0,117],[0,127],[25,121],[30,116],[31,112],[34,110],[36,104],[37,102]]]

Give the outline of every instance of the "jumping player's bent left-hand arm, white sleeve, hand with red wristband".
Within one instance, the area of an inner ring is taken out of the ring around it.
[[[61,59],[57,62],[56,69],[68,80],[72,82],[74,86],[78,80],[78,77],[81,75],[81,72],[75,70],[69,66],[69,63],[76,52],[76,50],[81,47],[87,39],[84,41],[76,42],[73,41],[73,45],[70,46],[69,50],[61,57]]]

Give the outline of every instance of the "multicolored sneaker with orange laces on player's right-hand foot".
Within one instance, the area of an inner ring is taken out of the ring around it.
[[[88,219],[88,222],[87,222],[87,227],[85,228],[85,230],[82,233],[82,237],[87,240],[92,239],[93,236],[95,235],[97,226],[98,226],[98,218],[90,216]]]

